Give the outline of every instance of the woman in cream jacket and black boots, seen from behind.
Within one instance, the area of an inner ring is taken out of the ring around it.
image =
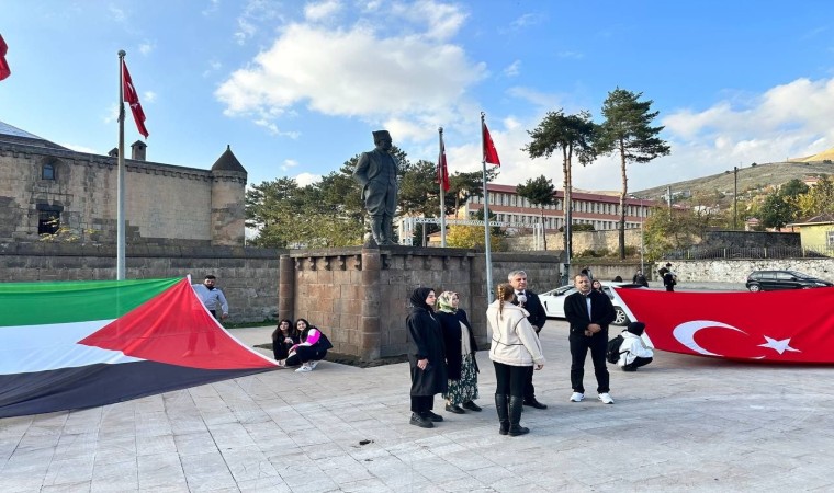
[[[495,366],[495,408],[501,435],[518,436],[530,429],[521,426],[525,383],[529,367],[544,368],[544,355],[536,330],[527,320],[530,313],[512,305],[516,290],[509,284],[498,285],[498,297],[486,310],[493,333],[489,359]]]

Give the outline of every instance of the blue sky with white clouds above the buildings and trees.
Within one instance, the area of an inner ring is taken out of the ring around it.
[[[387,129],[413,162],[495,183],[561,157],[522,148],[548,112],[642,93],[667,157],[629,164],[629,191],[834,147],[834,2],[803,0],[0,0],[12,74],[0,121],[70,149],[117,145],[119,58],[139,93],[147,159],[210,169],[230,146],[250,184],[306,185]],[[142,139],[131,113],[126,146]],[[619,161],[575,164],[574,186],[622,187]]]

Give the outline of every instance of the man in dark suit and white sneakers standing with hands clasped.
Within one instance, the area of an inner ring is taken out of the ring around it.
[[[608,325],[617,319],[611,300],[604,293],[590,288],[590,279],[584,274],[574,277],[577,293],[565,298],[565,318],[571,324],[567,341],[571,344],[571,394],[572,402],[585,399],[585,357],[590,349],[594,374],[597,377],[597,393],[606,404],[613,404],[608,387],[606,349],[608,347]]]

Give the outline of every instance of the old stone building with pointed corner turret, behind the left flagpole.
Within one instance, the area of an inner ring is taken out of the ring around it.
[[[244,244],[247,172],[230,148],[211,170],[125,159],[128,245]],[[115,151],[115,150],[114,150]],[[117,151],[77,152],[0,122],[0,242],[43,234],[116,242]]]

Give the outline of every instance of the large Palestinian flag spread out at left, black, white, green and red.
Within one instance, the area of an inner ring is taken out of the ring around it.
[[[0,417],[90,408],[277,368],[189,278],[0,284]]]

